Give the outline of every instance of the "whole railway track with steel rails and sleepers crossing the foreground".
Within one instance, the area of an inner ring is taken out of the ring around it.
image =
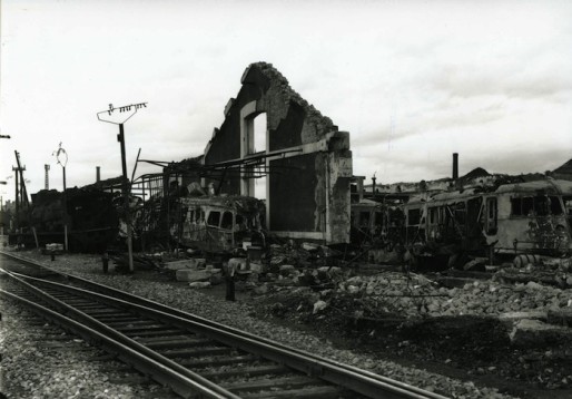
[[[2,296],[101,347],[181,397],[444,398],[10,257],[24,266],[20,273],[2,270],[12,282],[11,290],[0,290]]]

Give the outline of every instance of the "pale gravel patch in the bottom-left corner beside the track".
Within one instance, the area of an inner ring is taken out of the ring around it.
[[[0,392],[7,398],[175,398],[20,306],[0,301]],[[132,381],[139,383],[132,383]]]

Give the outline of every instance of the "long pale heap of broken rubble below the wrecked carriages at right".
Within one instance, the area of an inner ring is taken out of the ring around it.
[[[316,276],[324,276],[316,270]],[[343,274],[338,273],[337,279]],[[423,275],[384,273],[352,276],[339,281],[334,293],[347,293],[369,303],[378,313],[396,313],[407,318],[441,315],[491,315],[515,311],[572,309],[572,290],[562,290],[535,282],[504,284],[475,281],[463,288],[447,289]]]

